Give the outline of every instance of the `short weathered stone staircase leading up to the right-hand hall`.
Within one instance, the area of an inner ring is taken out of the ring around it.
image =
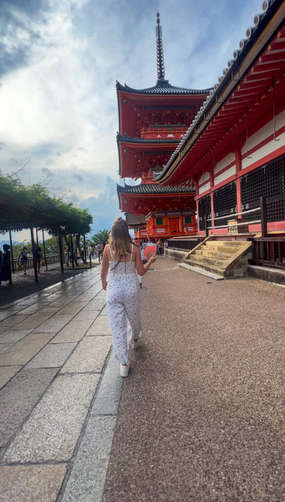
[[[213,240],[210,236],[192,249],[179,266],[212,279],[242,277],[250,250],[251,242],[246,240]]]

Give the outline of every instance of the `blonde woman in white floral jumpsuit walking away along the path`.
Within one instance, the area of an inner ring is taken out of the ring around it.
[[[145,265],[142,264],[140,249],[132,241],[127,222],[121,217],[116,218],[109,244],[105,246],[103,253],[101,279],[103,289],[107,290],[108,321],[114,353],[121,362],[121,376],[129,374],[127,319],[132,329],[133,348],[139,347],[142,337],[141,289],[136,270],[143,276],[155,260],[153,256]],[[110,276],[107,283],[109,267]]]

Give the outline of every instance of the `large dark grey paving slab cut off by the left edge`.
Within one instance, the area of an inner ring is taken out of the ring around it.
[[[58,368],[23,368],[0,391],[0,446],[5,446],[24,422],[57,371]]]

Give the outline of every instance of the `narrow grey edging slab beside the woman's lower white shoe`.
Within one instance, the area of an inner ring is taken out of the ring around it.
[[[123,388],[120,364],[111,353],[91,415],[117,415]]]

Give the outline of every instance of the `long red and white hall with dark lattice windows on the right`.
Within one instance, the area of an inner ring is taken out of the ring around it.
[[[188,186],[193,180],[197,234],[212,240],[250,238],[250,263],[281,268],[285,267],[285,2],[266,0],[262,11],[154,180],[167,189]],[[204,249],[189,257],[193,265],[210,264]]]

